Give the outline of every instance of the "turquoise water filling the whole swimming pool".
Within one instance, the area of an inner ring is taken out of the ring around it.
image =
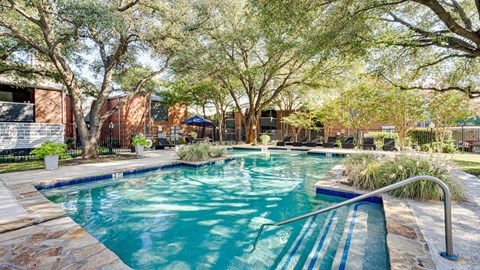
[[[388,269],[381,206],[315,193],[339,158],[232,151],[236,160],[42,191],[134,269]]]

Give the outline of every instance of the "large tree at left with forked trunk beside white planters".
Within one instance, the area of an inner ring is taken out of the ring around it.
[[[181,29],[195,28],[188,8],[182,1],[7,0],[0,3],[0,37],[48,59],[70,94],[82,156],[91,158],[98,156],[104,121],[132,94],[155,87],[152,79],[187,36]],[[144,64],[142,55],[160,64]],[[128,95],[102,113],[113,85]],[[89,127],[85,96],[93,98]]]

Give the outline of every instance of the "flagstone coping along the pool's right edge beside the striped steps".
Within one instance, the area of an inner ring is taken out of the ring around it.
[[[346,198],[356,197],[368,191],[358,190],[346,185],[343,175],[345,167],[335,165],[327,176],[315,185],[317,191],[334,190],[325,193]],[[343,196],[342,196],[343,195]],[[425,240],[417,218],[406,199],[396,198],[388,194],[379,196],[383,203],[385,225],[387,230],[386,244],[391,269],[436,269],[431,257],[428,243]]]

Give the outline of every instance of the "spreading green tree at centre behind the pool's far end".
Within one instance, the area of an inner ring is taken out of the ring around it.
[[[254,141],[262,110],[280,93],[336,74],[345,65],[341,52],[360,48],[352,44],[358,45],[361,20],[352,19],[345,3],[221,1],[212,14],[196,59],[212,63],[229,90],[247,142]]]

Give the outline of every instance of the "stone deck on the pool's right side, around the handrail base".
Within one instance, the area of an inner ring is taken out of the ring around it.
[[[335,166],[317,187],[364,194],[342,184],[343,166]],[[382,194],[387,226],[387,246],[392,269],[480,269],[480,179],[460,170],[451,177],[460,181],[465,201],[452,202],[453,248],[458,261],[439,255],[445,251],[442,201],[420,202]]]

